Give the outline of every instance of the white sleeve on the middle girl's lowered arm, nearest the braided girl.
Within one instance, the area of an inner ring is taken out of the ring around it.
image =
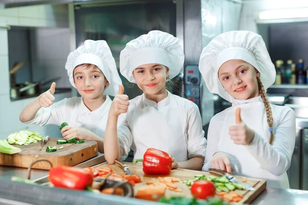
[[[198,106],[191,103],[191,108],[188,110],[187,120],[187,136],[188,136],[188,158],[196,156],[205,156],[206,139],[202,130],[202,120]]]

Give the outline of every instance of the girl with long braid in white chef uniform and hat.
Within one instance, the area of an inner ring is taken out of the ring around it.
[[[276,71],[262,37],[250,31],[217,36],[203,49],[199,69],[208,90],[232,103],[210,120],[202,170],[216,168],[289,188],[295,113],[268,101],[266,89]]]

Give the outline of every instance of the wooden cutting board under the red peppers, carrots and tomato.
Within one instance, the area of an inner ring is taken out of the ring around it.
[[[132,174],[137,174],[143,179],[143,182],[136,183],[134,187],[134,195],[136,195],[138,188],[146,186],[147,181],[158,180],[157,179],[158,176],[162,176],[162,177],[166,176],[166,175],[147,175],[147,174],[144,174],[144,172],[142,171],[143,166],[141,164],[134,164],[130,162],[125,162],[125,163],[128,166],[129,170],[132,172]],[[101,166],[110,167],[114,172],[117,172],[118,174],[125,173],[121,167],[117,165],[108,165],[107,162],[100,163],[99,165],[95,165],[92,168],[101,167]],[[208,172],[202,172],[202,171],[176,169],[176,170],[171,170],[171,173],[168,176],[177,177],[183,181],[183,180],[194,179],[196,175],[210,176],[211,174]],[[239,201],[239,203],[251,203],[266,188],[266,180],[241,177],[241,176],[236,176],[236,178],[246,179],[247,180],[246,183],[249,186],[256,188],[255,191],[236,190],[236,193],[244,196],[243,199]],[[188,186],[184,185],[181,182],[177,182],[175,184],[178,186],[178,188],[182,189],[182,193],[174,192],[171,190],[166,190],[166,194],[165,194],[166,197],[171,197],[171,196],[192,197]]]

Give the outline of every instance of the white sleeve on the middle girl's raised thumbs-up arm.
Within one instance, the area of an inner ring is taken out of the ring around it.
[[[118,140],[121,150],[121,156],[127,156],[132,144],[132,134],[128,125],[127,117],[129,113],[119,115],[118,119]]]

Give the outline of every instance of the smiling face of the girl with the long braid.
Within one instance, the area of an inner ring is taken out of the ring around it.
[[[244,60],[228,60],[218,71],[219,81],[235,99],[259,96],[257,76],[260,73]]]

